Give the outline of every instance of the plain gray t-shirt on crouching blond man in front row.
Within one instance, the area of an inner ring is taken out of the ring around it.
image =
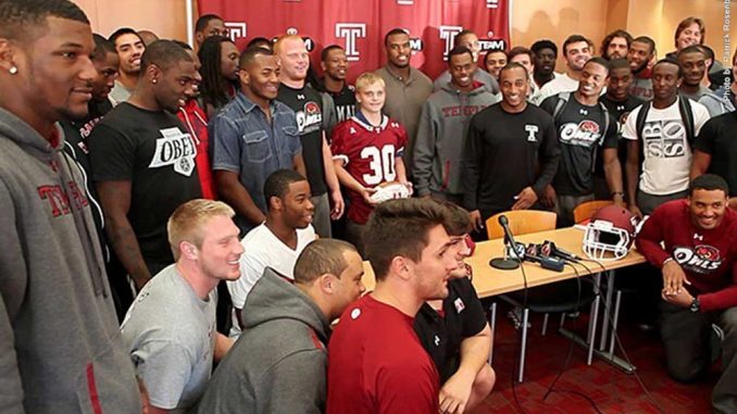
[[[151,405],[180,413],[204,391],[212,372],[216,304],[216,290],[200,299],[175,264],[138,293],[121,333]]]

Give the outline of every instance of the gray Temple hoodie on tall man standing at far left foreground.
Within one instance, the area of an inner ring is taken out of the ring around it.
[[[82,174],[0,109],[0,413],[138,413]]]

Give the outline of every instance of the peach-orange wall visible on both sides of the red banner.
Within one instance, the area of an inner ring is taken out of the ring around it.
[[[150,29],[164,38],[187,37],[186,0],[74,0],[87,12],[92,29],[104,36],[121,26]],[[195,1],[195,0],[192,0]],[[246,0],[233,0],[246,1]],[[440,1],[440,0],[430,0]],[[695,15],[707,24],[707,45],[722,59],[724,3],[727,0],[512,0],[512,45],[530,46],[548,38],[561,45],[570,34],[590,37],[597,50],[615,28],[655,40],[660,55],[674,49],[679,21]],[[196,2],[196,1],[195,1]],[[737,11],[735,11],[737,15]],[[197,14],[196,14],[197,15]],[[730,50],[737,47],[737,20],[730,25]],[[727,59],[727,62],[730,60]],[[559,62],[559,70],[562,70]]]

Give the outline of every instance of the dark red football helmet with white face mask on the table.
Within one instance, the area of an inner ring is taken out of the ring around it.
[[[626,209],[616,205],[600,209],[586,225],[584,253],[602,262],[624,258],[635,241],[636,224],[636,217]]]

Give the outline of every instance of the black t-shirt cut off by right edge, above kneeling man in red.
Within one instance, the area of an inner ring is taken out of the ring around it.
[[[737,197],[737,112],[727,112],[709,120],[694,142],[698,151],[711,155],[709,173],[727,180],[729,197]]]

